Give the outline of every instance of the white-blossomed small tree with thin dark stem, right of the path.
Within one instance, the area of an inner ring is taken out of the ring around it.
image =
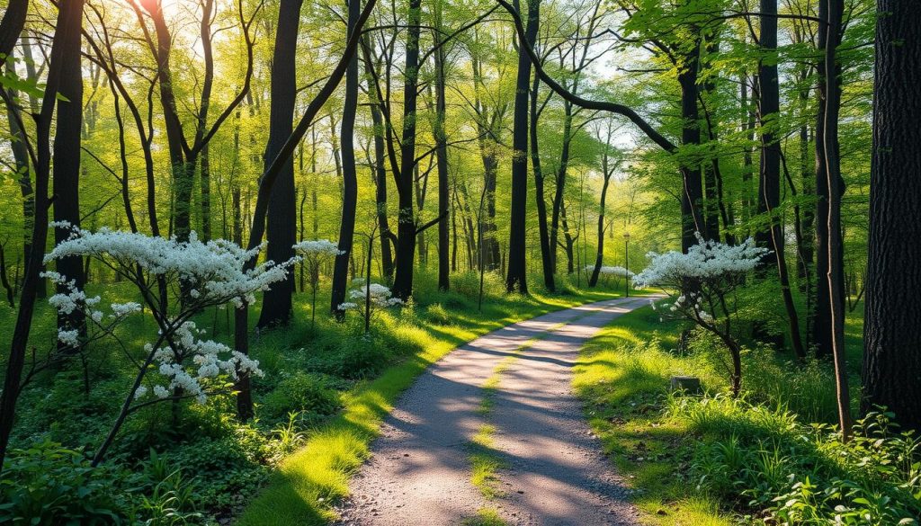
[[[732,393],[741,388],[741,347],[734,336],[733,293],[745,284],[745,277],[768,253],[749,238],[739,245],[705,241],[698,233],[697,244],[688,252],[649,252],[649,266],[634,277],[634,286],[659,286],[674,300],[664,304],[674,315],[693,321],[716,334],[729,349],[732,365],[729,380]]]

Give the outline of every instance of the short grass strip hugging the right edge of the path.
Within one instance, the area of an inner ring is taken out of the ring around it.
[[[682,467],[679,451],[688,430],[666,419],[659,403],[671,374],[697,372],[696,364],[664,350],[677,343],[679,330],[649,308],[624,314],[583,348],[573,385],[605,452],[633,488],[644,520],[728,525],[717,502],[693,495],[674,476]],[[642,353],[631,352],[639,346]]]

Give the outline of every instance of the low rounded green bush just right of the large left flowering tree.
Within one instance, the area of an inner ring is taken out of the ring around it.
[[[278,382],[262,400],[262,415],[280,420],[288,413],[332,415],[342,406],[332,380],[319,373],[297,372]]]

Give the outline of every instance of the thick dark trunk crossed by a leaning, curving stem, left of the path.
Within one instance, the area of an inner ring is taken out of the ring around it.
[[[294,122],[297,99],[297,27],[303,0],[281,0],[278,6],[278,27],[272,56],[271,109],[269,111],[269,140],[265,146],[265,167],[278,155]],[[294,197],[294,159],[287,158],[272,187],[269,197],[266,257],[285,262],[294,255],[292,246],[297,230],[297,204]],[[295,276],[275,283],[262,295],[259,327],[287,324],[291,321],[291,297]]]

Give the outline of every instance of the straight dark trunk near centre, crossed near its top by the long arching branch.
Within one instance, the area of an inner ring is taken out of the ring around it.
[[[521,13],[516,0],[515,11]],[[527,201],[528,201],[528,93],[530,87],[530,58],[525,47],[533,50],[540,23],[540,0],[528,3],[528,29],[519,42],[518,78],[515,89],[515,111],[512,132],[512,192],[508,233],[508,270],[506,290],[528,294],[527,267]]]

